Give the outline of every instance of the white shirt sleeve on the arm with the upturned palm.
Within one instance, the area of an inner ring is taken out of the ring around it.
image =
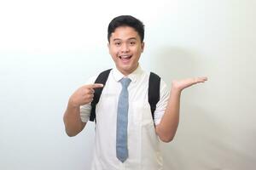
[[[160,81],[160,100],[156,104],[156,109],[154,111],[154,124],[158,125],[165,114],[166,107],[169,99],[169,90],[167,88],[166,82],[162,79]]]

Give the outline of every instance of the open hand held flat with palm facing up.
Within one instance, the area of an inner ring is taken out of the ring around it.
[[[190,86],[197,84],[199,82],[206,82],[207,77],[196,77],[196,78],[187,78],[180,81],[174,80],[172,82],[172,88],[182,91],[184,88],[189,88]]]

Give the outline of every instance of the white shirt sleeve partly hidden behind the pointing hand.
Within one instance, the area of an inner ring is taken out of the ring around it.
[[[90,79],[85,84],[92,84],[96,80],[96,77],[90,77]],[[85,104],[80,106],[80,117],[82,122],[88,122],[90,119],[91,105]]]

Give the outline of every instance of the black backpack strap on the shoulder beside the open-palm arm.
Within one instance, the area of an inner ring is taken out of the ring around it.
[[[150,105],[151,114],[154,122],[154,111],[156,104],[160,100],[160,77],[154,72],[150,72],[148,82],[148,103]]]

